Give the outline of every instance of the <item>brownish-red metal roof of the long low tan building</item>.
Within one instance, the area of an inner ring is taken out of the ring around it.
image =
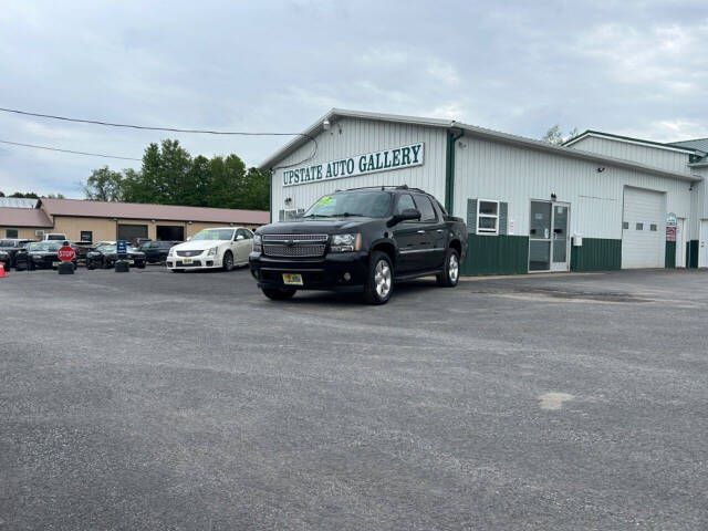
[[[181,207],[177,205],[150,205],[137,202],[85,201],[81,199],[42,198],[41,204],[50,216],[76,216],[87,218],[157,219],[160,221],[201,221],[210,223],[263,225],[270,212],[230,208]]]

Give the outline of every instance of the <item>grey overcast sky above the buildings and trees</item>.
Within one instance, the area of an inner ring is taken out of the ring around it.
[[[0,107],[300,132],[331,107],[538,138],[708,136],[708,2],[2,0]],[[139,158],[166,134],[0,113],[0,139]],[[170,135],[257,165],[287,139]],[[82,197],[139,163],[0,144],[0,190]]]

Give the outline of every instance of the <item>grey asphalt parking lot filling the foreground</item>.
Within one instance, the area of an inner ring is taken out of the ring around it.
[[[0,295],[0,529],[708,527],[708,272]]]

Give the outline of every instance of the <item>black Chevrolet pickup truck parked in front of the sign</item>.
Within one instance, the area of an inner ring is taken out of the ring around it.
[[[363,291],[384,304],[394,282],[436,275],[455,287],[467,227],[417,188],[354,188],[320,198],[298,219],[256,231],[250,266],[266,296]]]

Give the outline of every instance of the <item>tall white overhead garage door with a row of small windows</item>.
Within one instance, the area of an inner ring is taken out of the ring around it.
[[[664,267],[664,194],[641,188],[624,189],[622,268]]]

